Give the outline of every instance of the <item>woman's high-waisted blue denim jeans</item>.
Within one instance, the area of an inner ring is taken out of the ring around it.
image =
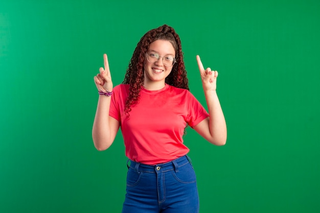
[[[130,161],[122,213],[197,213],[196,175],[188,156],[146,165]]]

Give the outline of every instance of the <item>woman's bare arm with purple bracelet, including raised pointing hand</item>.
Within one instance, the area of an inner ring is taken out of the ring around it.
[[[104,68],[100,67],[100,73],[94,77],[98,91],[112,91],[112,81],[107,55],[103,55]],[[111,94],[112,96],[112,94]],[[120,127],[119,121],[109,116],[111,97],[100,95],[92,129],[92,138],[97,150],[108,149],[117,135]]]

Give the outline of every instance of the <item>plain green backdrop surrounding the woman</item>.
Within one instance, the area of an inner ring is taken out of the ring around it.
[[[164,23],[218,70],[227,144],[191,128],[185,143],[200,212],[320,212],[320,1],[10,1],[0,3],[0,212],[121,212],[121,132],[92,141],[93,77],[108,54],[120,84],[139,39]]]

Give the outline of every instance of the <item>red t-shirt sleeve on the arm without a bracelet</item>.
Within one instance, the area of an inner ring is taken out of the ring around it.
[[[188,93],[188,116],[186,121],[190,127],[194,127],[203,121],[203,119],[209,117],[209,113],[191,92]]]

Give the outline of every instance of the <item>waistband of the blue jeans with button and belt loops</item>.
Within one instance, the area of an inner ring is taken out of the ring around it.
[[[128,165],[128,168],[132,168],[136,171],[141,172],[166,172],[170,170],[175,170],[178,172],[179,167],[182,167],[182,165],[186,165],[187,163],[191,163],[191,159],[184,155],[182,157],[178,157],[177,159],[174,159],[172,161],[166,162],[166,163],[159,163],[156,165],[147,165],[143,163],[134,162],[132,160],[128,160],[130,162],[130,167]]]

